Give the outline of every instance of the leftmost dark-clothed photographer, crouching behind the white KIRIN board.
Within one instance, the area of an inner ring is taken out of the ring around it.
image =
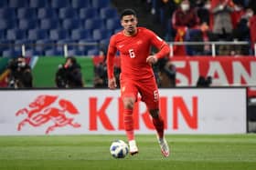
[[[24,56],[11,60],[7,68],[10,70],[8,86],[14,88],[33,87],[31,67],[27,65]]]

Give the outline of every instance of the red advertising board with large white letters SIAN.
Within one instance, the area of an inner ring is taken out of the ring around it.
[[[93,63],[101,62],[101,57],[94,57]],[[256,57],[254,56],[187,56],[171,57],[176,65],[176,86],[195,86],[200,75],[211,76],[212,86],[256,86]],[[120,58],[115,57],[115,65],[120,65]],[[256,96],[254,88],[249,88],[249,95]]]

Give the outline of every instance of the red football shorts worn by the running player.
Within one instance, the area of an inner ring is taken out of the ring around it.
[[[159,94],[155,76],[144,80],[132,80],[121,77],[120,88],[122,98],[132,96],[137,101],[138,94],[140,94],[141,100],[149,110],[159,108]]]

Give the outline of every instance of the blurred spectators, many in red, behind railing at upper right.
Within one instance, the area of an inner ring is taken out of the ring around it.
[[[255,0],[147,0],[165,40],[248,42],[219,45],[218,55],[251,55],[256,43]],[[174,55],[209,55],[210,45],[176,45]]]

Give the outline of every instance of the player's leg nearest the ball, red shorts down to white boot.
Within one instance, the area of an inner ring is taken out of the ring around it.
[[[133,105],[136,101],[137,89],[133,82],[121,80],[121,95],[123,99],[124,129],[129,141],[130,154],[138,153],[133,129]]]

